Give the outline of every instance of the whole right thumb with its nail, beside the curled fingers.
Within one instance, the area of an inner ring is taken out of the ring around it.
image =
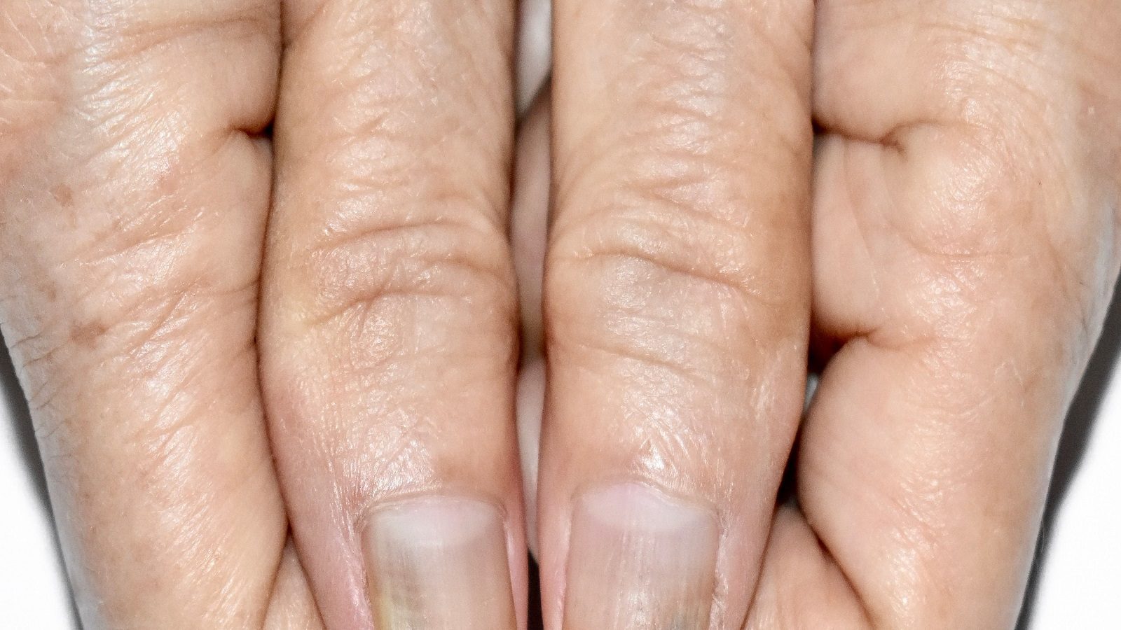
[[[549,628],[743,621],[803,404],[812,9],[554,7]]]

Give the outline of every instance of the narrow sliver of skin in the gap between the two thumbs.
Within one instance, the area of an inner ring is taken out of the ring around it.
[[[518,128],[511,201],[510,244],[518,276],[521,360],[518,365],[518,451],[525,495],[526,534],[537,550],[537,460],[545,405],[545,348],[541,274],[549,214],[549,92],[529,108]]]

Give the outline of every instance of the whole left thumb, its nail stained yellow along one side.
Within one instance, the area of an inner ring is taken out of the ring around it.
[[[328,628],[513,628],[512,4],[285,10],[261,346],[300,559]]]

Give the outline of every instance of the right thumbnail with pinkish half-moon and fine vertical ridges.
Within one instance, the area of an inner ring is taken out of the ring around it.
[[[715,515],[638,483],[575,506],[564,630],[707,630]]]

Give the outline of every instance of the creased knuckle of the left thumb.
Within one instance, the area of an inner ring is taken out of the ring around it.
[[[475,328],[509,337],[513,272],[498,225],[426,217],[363,222],[313,247],[294,274],[303,325],[373,337],[382,351],[452,351]],[[512,342],[510,342],[512,343]]]

